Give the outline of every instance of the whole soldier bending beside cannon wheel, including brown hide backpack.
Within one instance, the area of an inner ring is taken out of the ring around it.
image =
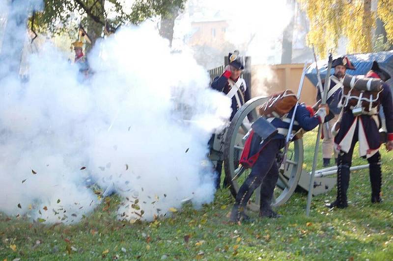
[[[240,159],[241,164],[245,167],[252,167],[252,171],[237,193],[236,203],[230,216],[231,221],[239,222],[249,219],[245,214],[245,209],[253,191],[259,185],[261,185],[259,216],[279,217],[270,206],[279,176],[279,163],[276,156],[285,146],[285,137],[288,134],[296,103],[296,95],[287,90],[272,95],[261,106],[259,111],[263,116],[253,123]],[[271,110],[271,108],[277,109]],[[326,104],[320,105],[316,113],[313,108],[299,104],[292,133],[314,129],[324,122],[328,113],[329,108]]]

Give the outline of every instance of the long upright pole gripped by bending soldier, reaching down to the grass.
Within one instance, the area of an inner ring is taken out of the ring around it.
[[[328,95],[328,81],[330,77],[330,70],[332,69],[332,53],[329,54],[329,63],[328,63],[328,70],[326,71],[326,78],[325,78],[325,86],[323,89],[323,96],[322,96],[322,104],[326,104],[326,98]],[[306,215],[309,216],[310,213],[310,207],[311,207],[311,198],[312,198],[312,191],[314,189],[314,177],[315,177],[315,168],[316,168],[316,162],[318,159],[318,149],[319,149],[319,139],[321,137],[321,132],[322,132],[322,123],[319,124],[318,126],[318,134],[316,136],[316,142],[315,142],[315,151],[314,151],[314,160],[312,162],[312,171],[311,171],[311,177],[310,177],[310,183],[309,183],[309,194],[307,195],[307,206],[306,206]]]

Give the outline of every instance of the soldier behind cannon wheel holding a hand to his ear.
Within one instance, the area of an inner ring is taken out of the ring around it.
[[[239,108],[251,99],[250,89],[247,88],[246,81],[240,77],[244,70],[244,58],[239,55],[239,51],[228,54],[228,65],[225,67],[224,73],[216,77],[211,87],[219,92],[223,92],[232,100],[232,113],[229,120],[232,120]],[[216,188],[220,188],[221,171],[223,161],[218,161],[216,165]],[[228,185],[224,181],[224,186]]]

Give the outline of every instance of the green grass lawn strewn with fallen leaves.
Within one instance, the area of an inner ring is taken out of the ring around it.
[[[311,169],[315,131],[304,139],[305,167]],[[217,192],[212,204],[199,210],[185,205],[172,217],[153,223],[117,221],[120,199],[112,196],[108,211],[100,206],[72,226],[32,224],[0,215],[0,260],[392,260],[393,155],[381,152],[382,204],[370,203],[368,170],[351,176],[347,209],[324,208],[325,200],[334,200],[334,189],[314,197],[306,217],[307,195],[295,193],[277,209],[282,218],[259,219],[252,213],[255,221],[242,225],[228,223],[233,198],[226,189]],[[321,167],[321,160],[318,163]],[[354,165],[365,163],[354,156]]]

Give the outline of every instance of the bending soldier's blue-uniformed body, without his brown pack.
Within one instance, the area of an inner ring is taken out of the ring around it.
[[[252,166],[252,171],[236,195],[236,202],[230,216],[231,221],[239,222],[249,219],[245,214],[247,202],[259,185],[261,185],[259,216],[270,218],[280,216],[271,208],[274,187],[279,177],[279,164],[276,157],[285,146],[285,137],[288,133],[293,111],[294,107],[283,118],[270,117],[257,120],[270,122],[277,128],[278,132],[271,139],[263,142],[261,142],[261,137],[253,131],[247,138],[240,162],[244,166]],[[299,104],[295,114],[293,133],[297,133],[301,129],[305,131],[314,129],[321,122],[324,122],[328,113],[329,108],[326,104],[320,105],[316,113],[311,107]]]

